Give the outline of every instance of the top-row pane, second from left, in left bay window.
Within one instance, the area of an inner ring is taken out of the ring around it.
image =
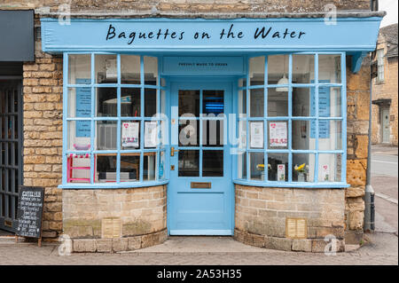
[[[116,55],[95,55],[96,83],[117,83]]]

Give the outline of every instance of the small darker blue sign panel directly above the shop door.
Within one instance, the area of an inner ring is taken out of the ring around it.
[[[244,60],[240,56],[163,58],[162,75],[244,75]]]

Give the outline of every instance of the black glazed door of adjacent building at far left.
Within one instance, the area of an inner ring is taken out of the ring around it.
[[[15,232],[22,185],[22,94],[20,80],[0,77],[0,229]]]

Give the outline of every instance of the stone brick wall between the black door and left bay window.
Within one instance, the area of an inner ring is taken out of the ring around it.
[[[62,232],[62,57],[43,53],[35,28],[35,61],[23,65],[24,185],[45,188],[43,237]]]

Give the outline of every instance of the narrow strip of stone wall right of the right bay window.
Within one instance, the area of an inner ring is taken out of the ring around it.
[[[357,74],[351,72],[350,57],[347,60],[347,183],[346,230],[348,238],[363,233],[364,189],[366,185],[369,109],[370,109],[370,59],[364,59]],[[357,242],[358,244],[358,242]]]

